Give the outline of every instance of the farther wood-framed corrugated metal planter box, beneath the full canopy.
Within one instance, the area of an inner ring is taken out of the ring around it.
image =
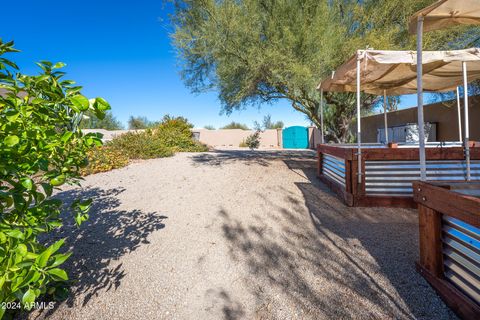
[[[365,146],[358,183],[356,146],[318,145],[318,177],[348,206],[415,208],[412,182],[420,180],[418,148]],[[470,149],[471,178],[480,180],[480,148]],[[426,149],[427,179],[464,180],[462,147]]]

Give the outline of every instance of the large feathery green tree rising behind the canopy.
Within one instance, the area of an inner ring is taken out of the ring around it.
[[[173,0],[182,76],[194,92],[216,90],[230,113],[287,99],[320,126],[319,81],[357,49],[415,49],[408,18],[433,0]],[[462,28],[428,33],[425,48],[458,42]],[[337,141],[355,119],[354,94],[326,93],[329,132]],[[344,98],[339,98],[344,96]],[[362,108],[378,103],[362,99]],[[348,103],[347,105],[342,103]],[[348,123],[348,125],[345,125]],[[340,134],[339,136],[337,134]]]

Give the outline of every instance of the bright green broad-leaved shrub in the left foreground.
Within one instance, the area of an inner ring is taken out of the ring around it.
[[[0,56],[14,51],[13,42],[0,40]],[[59,253],[63,239],[46,246],[38,237],[62,225],[62,201],[51,197],[53,189],[78,184],[86,152],[101,145],[99,135],[78,129],[83,112],[102,118],[110,109],[64,80],[63,63],[38,65],[42,72],[27,76],[0,59],[0,318],[12,316],[7,303],[30,309],[40,296],[63,296],[68,276],[59,267],[70,253]],[[90,206],[91,200],[74,201],[78,225]]]

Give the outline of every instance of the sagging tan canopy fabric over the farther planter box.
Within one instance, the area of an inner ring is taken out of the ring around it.
[[[361,91],[383,95],[417,93],[417,52],[360,50],[317,89],[355,92],[357,59]],[[480,49],[423,52],[423,87],[427,92],[453,91],[463,83],[462,62],[467,62],[468,81],[480,78]]]

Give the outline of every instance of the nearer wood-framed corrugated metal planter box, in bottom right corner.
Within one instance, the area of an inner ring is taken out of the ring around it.
[[[418,272],[463,319],[480,319],[480,183],[414,182]]]

